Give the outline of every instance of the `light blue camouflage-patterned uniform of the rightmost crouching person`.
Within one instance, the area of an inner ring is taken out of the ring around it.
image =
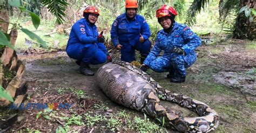
[[[156,44],[147,56],[144,64],[156,72],[168,72],[174,69],[174,77],[185,77],[186,69],[197,60],[194,51],[201,45],[201,39],[193,33],[186,25],[174,23],[172,31],[168,34],[162,29],[157,34]],[[180,47],[185,54],[176,54],[172,51],[174,47]],[[164,55],[158,57],[160,51]]]

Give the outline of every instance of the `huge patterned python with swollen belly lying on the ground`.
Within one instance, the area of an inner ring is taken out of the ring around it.
[[[107,63],[98,69],[96,80],[112,101],[160,120],[166,127],[182,132],[208,132],[218,126],[218,114],[208,105],[165,90],[146,72],[130,63],[115,60]],[[181,117],[166,110],[159,104],[158,95],[196,112],[199,117]]]

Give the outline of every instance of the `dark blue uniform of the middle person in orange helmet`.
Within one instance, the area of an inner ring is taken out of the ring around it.
[[[144,42],[139,42],[140,34],[142,34]],[[149,25],[145,18],[138,14],[131,21],[126,18],[126,13],[121,14],[112,24],[111,40],[114,47],[118,44],[123,46],[121,48],[122,61],[135,61],[135,49],[139,50],[142,57],[146,58],[151,48],[149,37]]]

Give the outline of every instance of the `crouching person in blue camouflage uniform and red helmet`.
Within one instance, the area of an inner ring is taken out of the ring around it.
[[[201,45],[201,39],[186,25],[175,22],[175,16],[177,12],[171,6],[163,5],[156,11],[163,29],[158,32],[156,44],[140,69],[146,71],[148,66],[156,72],[169,71],[170,82],[183,83],[186,68],[197,60],[194,49]],[[158,57],[161,50],[164,55]]]

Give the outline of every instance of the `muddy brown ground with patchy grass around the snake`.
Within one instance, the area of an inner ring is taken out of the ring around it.
[[[228,40],[200,46],[197,53],[198,61],[187,69],[185,83],[170,83],[165,78],[167,73],[148,72],[164,88],[210,105],[220,118],[214,132],[255,132],[255,47],[247,49],[246,41]],[[140,112],[114,104],[100,91],[95,76],[81,75],[78,65],[65,52],[26,53],[19,57],[27,62],[23,75],[24,82],[29,83],[25,102],[69,102],[73,106],[69,110],[21,110],[19,122],[9,132],[53,132],[60,127],[78,132],[174,132],[145,119]],[[96,72],[99,67],[92,69]],[[163,101],[163,105],[181,116],[197,116],[176,104]]]

